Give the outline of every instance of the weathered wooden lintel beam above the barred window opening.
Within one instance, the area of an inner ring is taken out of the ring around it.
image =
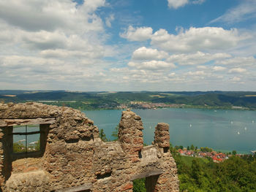
[[[0,119],[0,127],[52,124],[55,122],[56,118]]]

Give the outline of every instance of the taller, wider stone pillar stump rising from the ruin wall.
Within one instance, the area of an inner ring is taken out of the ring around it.
[[[118,140],[124,153],[132,158],[132,161],[139,161],[143,149],[143,123],[140,116],[129,110],[122,112],[118,129]]]

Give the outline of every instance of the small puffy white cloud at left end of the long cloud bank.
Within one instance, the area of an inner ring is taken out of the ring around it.
[[[152,36],[153,29],[151,27],[140,27],[140,28],[133,28],[129,26],[127,31],[123,34],[120,34],[120,37],[128,39],[129,41],[145,41],[150,39]]]

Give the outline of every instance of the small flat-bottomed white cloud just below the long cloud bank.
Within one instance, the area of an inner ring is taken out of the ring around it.
[[[159,60],[167,57],[168,53],[165,51],[159,51],[157,49],[146,47],[140,47],[132,53],[132,59],[135,60]]]

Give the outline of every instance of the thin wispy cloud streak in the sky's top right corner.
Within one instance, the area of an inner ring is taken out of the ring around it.
[[[256,18],[256,1],[244,0],[241,1],[237,7],[228,9],[224,15],[211,20],[210,23],[224,22],[224,23],[239,23],[243,20]]]

